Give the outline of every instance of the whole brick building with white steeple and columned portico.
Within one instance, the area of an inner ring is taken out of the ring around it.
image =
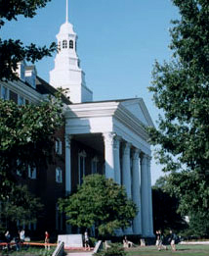
[[[57,35],[60,51],[55,69],[50,72],[50,84],[68,88],[70,101],[64,99],[65,128],[56,134],[54,164],[46,169],[37,167],[35,177],[30,175],[26,180],[30,190],[41,197],[47,216],[38,221],[33,231],[64,232],[58,198],[75,189],[83,176],[100,173],[123,184],[139,208],[132,227],[125,233],[151,237],[151,151],[146,127],[153,126],[152,121],[142,98],[93,101],[93,92],[79,67],[77,36],[68,22],[67,1],[66,21]],[[46,94],[56,91],[37,76],[34,66],[22,62],[17,73],[17,81],[0,82],[0,98],[19,105],[38,104]],[[17,180],[25,182],[20,177]],[[76,232],[73,228],[70,231]]]

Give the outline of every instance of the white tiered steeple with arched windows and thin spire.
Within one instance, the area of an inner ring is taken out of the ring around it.
[[[50,84],[68,89],[67,96],[72,103],[93,100],[92,91],[86,86],[85,73],[80,69],[76,53],[77,35],[68,22],[68,0],[66,0],[66,21],[57,34],[58,53],[55,68],[50,72]]]

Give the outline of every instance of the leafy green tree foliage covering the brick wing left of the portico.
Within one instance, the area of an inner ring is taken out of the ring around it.
[[[24,106],[0,99],[0,200],[7,200],[16,185],[17,171],[24,177],[28,166],[50,161],[62,124],[61,98]]]

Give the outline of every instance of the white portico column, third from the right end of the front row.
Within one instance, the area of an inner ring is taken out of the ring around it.
[[[138,214],[134,219],[133,231],[134,234],[142,233],[142,218],[141,218],[141,184],[140,184],[140,167],[139,167],[140,150],[135,148],[133,152],[133,166],[132,166],[132,186],[133,186],[133,201],[137,205]]]

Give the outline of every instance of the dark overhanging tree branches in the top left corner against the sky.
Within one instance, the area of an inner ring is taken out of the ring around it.
[[[6,21],[18,20],[18,16],[33,18],[36,10],[46,6],[51,0],[0,0],[0,28],[5,26]],[[49,48],[46,46],[37,47],[34,43],[23,45],[20,39],[3,40],[0,38],[0,80],[17,79],[14,71],[18,68],[18,63],[26,60],[34,63],[44,56],[51,56],[56,50],[56,43],[52,43]]]

